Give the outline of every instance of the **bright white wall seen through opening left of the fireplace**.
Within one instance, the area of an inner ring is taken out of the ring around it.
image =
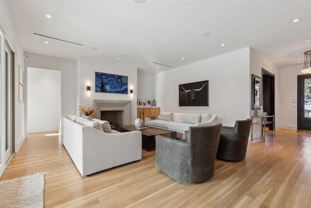
[[[61,72],[28,67],[28,132],[60,129]]]

